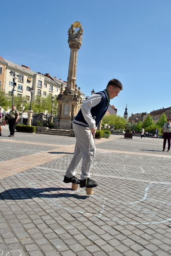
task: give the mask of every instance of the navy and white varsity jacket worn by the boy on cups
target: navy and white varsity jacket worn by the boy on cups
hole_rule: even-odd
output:
[[[109,102],[106,90],[93,94],[83,103],[73,122],[90,129],[96,128],[106,113]]]

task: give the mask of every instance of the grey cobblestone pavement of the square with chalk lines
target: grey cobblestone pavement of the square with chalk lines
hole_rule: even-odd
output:
[[[3,135],[0,166],[57,158],[0,180],[0,256],[171,255],[171,154],[161,139],[96,140],[99,186],[88,196],[63,183],[75,138]]]

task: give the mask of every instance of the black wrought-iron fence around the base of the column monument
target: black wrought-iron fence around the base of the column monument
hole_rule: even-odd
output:
[[[50,114],[37,113],[32,116],[32,125],[44,126],[51,129],[72,129],[74,116],[53,116]]]

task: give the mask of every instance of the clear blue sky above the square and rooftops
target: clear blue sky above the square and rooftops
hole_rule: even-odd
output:
[[[68,29],[80,21],[76,83],[85,95],[116,78],[110,104],[123,116],[171,106],[170,0],[6,0],[1,3],[0,56],[67,81]]]

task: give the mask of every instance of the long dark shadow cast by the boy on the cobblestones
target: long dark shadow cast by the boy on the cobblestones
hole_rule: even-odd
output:
[[[30,198],[76,198],[85,200],[89,198],[87,195],[77,195],[64,193],[62,190],[72,191],[69,188],[44,188],[44,189],[34,189],[34,188],[16,188],[16,189],[7,189],[0,193],[0,200],[22,200]],[[61,191],[56,194],[47,194],[50,191]],[[46,194],[43,194],[46,192]]]

